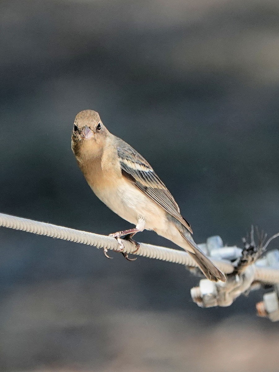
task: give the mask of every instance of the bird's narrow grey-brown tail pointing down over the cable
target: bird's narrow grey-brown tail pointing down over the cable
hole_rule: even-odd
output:
[[[192,239],[190,233],[188,231],[183,231],[182,232],[180,229],[179,229],[179,232],[184,237],[184,239],[187,241],[187,243],[191,246],[191,248],[193,249],[194,253],[192,253],[190,251],[188,251],[188,253],[195,260],[195,262],[197,262],[199,268],[204,273],[204,275],[209,280],[213,280],[214,282],[218,282],[218,280],[221,280],[222,282],[226,282],[226,276],[199,249],[197,244]]]

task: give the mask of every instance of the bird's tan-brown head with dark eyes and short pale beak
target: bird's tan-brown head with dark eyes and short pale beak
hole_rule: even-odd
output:
[[[72,151],[78,159],[96,157],[101,153],[108,134],[98,112],[83,110],[74,120]]]

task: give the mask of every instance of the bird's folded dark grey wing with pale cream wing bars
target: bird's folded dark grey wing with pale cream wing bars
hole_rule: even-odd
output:
[[[117,153],[123,176],[192,233],[190,224],[181,216],[179,206],[173,196],[145,158],[120,139]]]

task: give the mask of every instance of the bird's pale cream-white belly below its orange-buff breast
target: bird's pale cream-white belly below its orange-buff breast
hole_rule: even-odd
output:
[[[93,191],[108,208],[131,224],[136,225],[143,218],[147,230],[165,227],[163,209],[129,181]]]

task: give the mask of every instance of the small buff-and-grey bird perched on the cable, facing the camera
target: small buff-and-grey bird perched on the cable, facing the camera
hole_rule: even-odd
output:
[[[95,195],[135,228],[110,234],[123,253],[121,237],[134,242],[140,231],[152,230],[188,251],[204,275],[215,282],[226,276],[193,240],[190,224],[150,164],[132,146],[111,134],[94,110],[82,110],[74,119],[71,148]],[[104,249],[106,257],[107,249]]]

